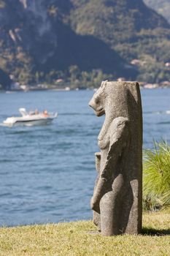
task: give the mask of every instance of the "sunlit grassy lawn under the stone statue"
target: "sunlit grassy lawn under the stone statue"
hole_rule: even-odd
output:
[[[91,221],[0,228],[0,255],[170,255],[170,209],[143,215],[139,236],[102,237]]]

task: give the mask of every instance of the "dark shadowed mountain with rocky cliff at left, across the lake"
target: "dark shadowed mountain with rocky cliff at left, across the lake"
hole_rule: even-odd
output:
[[[71,2],[1,1],[0,67],[22,83],[34,81],[35,74],[66,70],[77,65],[80,70],[102,69],[127,77],[135,69],[115,50],[93,35],[75,33],[64,18],[69,17]]]

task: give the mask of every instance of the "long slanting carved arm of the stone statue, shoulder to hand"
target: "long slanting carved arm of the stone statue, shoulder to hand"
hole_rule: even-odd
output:
[[[109,151],[107,154],[107,159],[104,165],[103,170],[98,177],[98,182],[96,184],[96,189],[94,191],[92,200],[91,200],[91,208],[94,211],[99,213],[99,202],[101,197],[107,191],[108,181],[113,175],[113,171],[115,166],[117,165],[117,159],[122,154],[123,148],[126,145],[126,141],[128,138],[129,129],[128,129],[128,119],[119,117],[117,118],[117,122],[112,127],[112,131],[109,139]]]

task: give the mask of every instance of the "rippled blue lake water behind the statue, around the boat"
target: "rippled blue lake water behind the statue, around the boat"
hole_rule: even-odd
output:
[[[44,127],[0,127],[0,225],[90,219],[94,153],[104,118],[88,102],[93,91],[0,94],[0,123],[18,108],[58,112]],[[142,90],[144,148],[170,142],[170,89]]]

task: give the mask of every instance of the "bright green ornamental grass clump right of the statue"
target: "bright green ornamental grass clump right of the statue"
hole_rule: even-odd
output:
[[[154,149],[144,150],[143,208],[157,211],[170,206],[170,146],[154,142]]]

